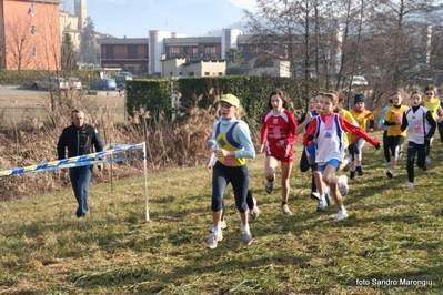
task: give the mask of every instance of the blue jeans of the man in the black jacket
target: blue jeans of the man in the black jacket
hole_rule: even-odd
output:
[[[88,189],[92,176],[92,165],[69,169],[69,177],[71,179],[72,189],[79,203],[75,215],[81,217],[89,212]]]

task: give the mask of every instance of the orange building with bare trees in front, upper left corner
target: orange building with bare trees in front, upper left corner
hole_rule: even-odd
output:
[[[0,69],[61,69],[59,4],[0,0]]]

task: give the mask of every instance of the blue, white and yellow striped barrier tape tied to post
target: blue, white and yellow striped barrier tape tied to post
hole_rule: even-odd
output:
[[[10,175],[16,175],[16,174],[23,174],[23,173],[30,173],[30,172],[39,172],[39,171],[51,171],[51,170],[58,170],[58,169],[69,169],[69,167],[77,167],[77,166],[87,166],[87,165],[93,165],[93,164],[99,164],[99,163],[112,163],[112,162],[120,162],[128,160],[127,157],[121,157],[121,159],[109,159],[109,160],[94,160],[95,157],[102,159],[104,156],[122,153],[125,151],[134,150],[134,149],[140,149],[143,146],[143,143],[139,144],[121,144],[120,148],[113,149],[113,150],[108,150],[108,151],[102,151],[102,152],[97,152],[97,153],[90,153],[85,155],[80,155],[80,156],[73,156],[73,157],[68,157],[63,160],[58,160],[58,161],[51,161],[51,162],[44,162],[36,165],[29,165],[24,167],[16,167],[16,169],[10,169],[10,170],[0,170],[0,177],[2,176],[10,176]],[[132,159],[132,157],[129,157]],[[119,160],[119,161],[115,161]]]

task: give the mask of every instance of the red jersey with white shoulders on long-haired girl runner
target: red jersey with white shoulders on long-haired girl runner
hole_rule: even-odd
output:
[[[260,143],[268,141],[268,149],[276,148],[280,140],[284,140],[284,145],[292,145],[298,139],[296,126],[295,116],[290,111],[283,109],[280,114],[274,114],[274,110],[270,110],[262,115]]]

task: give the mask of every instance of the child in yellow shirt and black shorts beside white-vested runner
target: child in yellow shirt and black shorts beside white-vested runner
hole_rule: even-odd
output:
[[[386,172],[387,177],[394,176],[396,161],[399,159],[401,146],[406,136],[406,131],[400,129],[403,121],[403,113],[407,109],[402,104],[402,95],[400,92],[392,94],[392,105],[384,115],[384,125],[387,126],[387,142],[391,150],[391,166]]]

